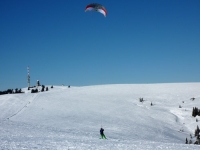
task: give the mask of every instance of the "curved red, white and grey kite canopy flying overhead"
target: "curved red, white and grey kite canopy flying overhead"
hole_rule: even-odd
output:
[[[86,11],[98,11],[100,13],[102,13],[104,15],[104,17],[106,17],[107,15],[107,10],[105,9],[104,6],[102,6],[101,4],[97,4],[97,3],[92,3],[89,4],[85,7],[85,12]]]

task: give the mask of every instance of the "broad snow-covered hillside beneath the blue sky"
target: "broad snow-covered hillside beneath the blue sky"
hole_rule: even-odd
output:
[[[22,90],[0,96],[1,149],[200,149],[184,144],[200,125],[200,83]]]

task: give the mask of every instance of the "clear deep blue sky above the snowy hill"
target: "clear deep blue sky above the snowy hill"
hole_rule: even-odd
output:
[[[0,90],[200,82],[200,0],[1,0],[0,62]]]

